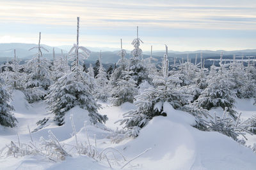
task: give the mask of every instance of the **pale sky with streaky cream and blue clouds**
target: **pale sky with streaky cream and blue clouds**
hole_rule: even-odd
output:
[[[256,0],[0,0],[0,43],[76,43],[142,50],[241,50],[256,48]]]

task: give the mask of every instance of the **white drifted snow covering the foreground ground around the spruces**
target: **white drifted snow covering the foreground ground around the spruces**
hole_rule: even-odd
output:
[[[14,114],[19,124],[13,129],[0,127],[0,148],[10,144],[10,141],[17,142],[17,133],[20,142],[28,143],[31,140],[28,125],[32,131],[36,128],[38,120],[49,116],[45,103],[28,104],[22,92],[14,91],[12,99],[11,104],[15,107]],[[86,126],[90,143],[94,145],[96,138],[99,151],[113,147],[130,160],[151,148],[147,153],[132,160],[124,169],[256,169],[256,154],[250,148],[241,146],[218,132],[203,132],[195,129],[191,126],[195,124],[191,115],[174,110],[168,103],[164,103],[167,117],[153,118],[141,130],[138,138],[127,138],[117,144],[111,143],[113,132],[117,127],[118,129],[122,127],[115,122],[122,118],[123,113],[134,109],[135,106],[131,103],[124,103],[119,107],[107,103],[100,104],[102,109],[99,112],[108,115],[108,122],[106,125]],[[219,108],[215,109],[218,110]],[[244,119],[256,114],[256,106],[253,106],[253,101],[250,99],[237,99],[236,110],[243,113]],[[70,147],[67,145],[67,151],[73,153],[72,157],[52,162],[38,155],[14,158],[1,154],[0,169],[110,169],[106,161],[97,162],[90,157],[74,154],[74,148],[71,146],[75,145],[76,139],[72,136],[70,115],[74,117],[77,140],[86,141],[84,121],[89,120],[88,111],[79,107],[68,111],[65,115],[65,125],[58,127],[49,124],[44,129],[33,132],[32,138],[35,143],[39,143],[40,136],[48,139],[48,131],[51,130],[61,143],[70,145]],[[256,143],[254,136],[248,139],[250,145]],[[113,164],[113,167],[120,169],[124,164],[125,162],[120,162],[120,165]]]

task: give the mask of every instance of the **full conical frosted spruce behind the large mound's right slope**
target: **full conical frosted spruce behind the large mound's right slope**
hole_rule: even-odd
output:
[[[234,78],[230,72],[221,62],[218,72],[214,76],[212,75],[211,78],[207,79],[207,87],[193,103],[193,106],[207,110],[218,106],[224,110],[227,107],[227,111],[230,115],[236,118],[236,111],[234,111],[234,102],[236,97],[234,87],[236,84],[234,83]],[[209,74],[209,76],[211,76],[211,74]]]

